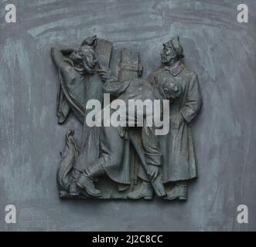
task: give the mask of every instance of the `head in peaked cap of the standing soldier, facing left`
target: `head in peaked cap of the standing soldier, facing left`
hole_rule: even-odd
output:
[[[173,37],[168,42],[162,44],[162,63],[168,65],[173,60],[183,58],[183,47],[179,43],[179,36]]]

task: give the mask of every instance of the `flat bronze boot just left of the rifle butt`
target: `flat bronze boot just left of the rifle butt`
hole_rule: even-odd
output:
[[[148,181],[142,181],[140,187],[129,192],[126,197],[130,199],[144,198],[145,200],[152,200],[153,193],[152,185]]]

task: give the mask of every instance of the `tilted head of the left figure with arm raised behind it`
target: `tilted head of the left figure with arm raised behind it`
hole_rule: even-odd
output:
[[[97,65],[97,52],[92,46],[80,46],[80,49],[70,54],[70,59],[81,66],[85,73],[94,73],[94,67]]]

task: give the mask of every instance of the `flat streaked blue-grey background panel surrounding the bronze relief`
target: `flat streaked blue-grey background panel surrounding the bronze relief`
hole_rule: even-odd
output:
[[[5,23],[5,5],[17,23]],[[0,3],[0,230],[256,230],[256,2],[244,0],[249,23],[237,22],[237,0],[38,0]],[[56,69],[49,49],[109,39],[138,49],[144,77],[160,66],[162,42],[179,35],[186,66],[196,71],[203,109],[193,122],[199,178],[185,203],[63,201],[56,169],[64,134],[57,124]],[[17,224],[5,224],[5,205]],[[237,223],[237,206],[249,224]]]

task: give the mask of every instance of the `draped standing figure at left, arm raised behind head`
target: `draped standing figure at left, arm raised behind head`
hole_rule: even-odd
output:
[[[109,66],[111,49],[111,42],[97,39],[96,36],[84,39],[79,48],[53,47],[51,49],[60,80],[56,108],[58,123],[64,123],[72,112],[77,120],[84,124],[80,154],[73,166],[73,182],[69,185],[70,195],[78,195],[77,176],[99,155],[100,129],[87,127],[84,120],[88,112],[87,101],[90,99],[102,101],[102,82],[95,72],[99,56],[101,63]]]

